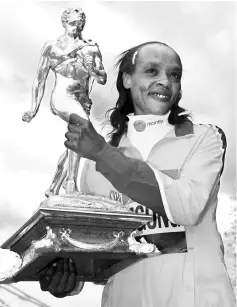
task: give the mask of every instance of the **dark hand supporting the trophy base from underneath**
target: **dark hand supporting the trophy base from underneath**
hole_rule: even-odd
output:
[[[44,274],[40,277],[41,290],[49,291],[58,298],[70,295],[76,286],[76,266],[68,258],[56,259],[47,266]]]

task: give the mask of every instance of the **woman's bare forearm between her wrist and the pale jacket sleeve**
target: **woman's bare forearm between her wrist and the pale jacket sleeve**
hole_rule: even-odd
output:
[[[146,162],[127,157],[118,148],[106,144],[97,157],[96,171],[120,193],[167,217],[156,176]]]

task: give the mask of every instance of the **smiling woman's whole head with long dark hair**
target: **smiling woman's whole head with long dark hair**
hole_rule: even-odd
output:
[[[158,50],[161,51],[159,55]],[[167,59],[168,54],[171,56]],[[162,59],[165,59],[164,63]],[[140,112],[149,114],[149,106],[157,115],[170,111],[168,121],[171,125],[181,124],[186,120],[189,112],[185,112],[178,105],[182,97],[182,63],[172,48],[160,42],[144,43],[122,53],[117,63],[117,66],[119,65],[119,98],[110,116],[114,128],[111,144],[116,145],[122,134],[127,131],[126,115],[133,112],[137,115],[142,114]],[[162,86],[163,83],[165,86]],[[136,97],[134,101],[131,95]]]

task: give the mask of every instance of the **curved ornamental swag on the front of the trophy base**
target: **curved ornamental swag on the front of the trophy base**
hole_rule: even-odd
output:
[[[113,233],[114,239],[111,240],[110,242],[106,243],[85,243],[81,242],[79,240],[73,239],[71,235],[71,230],[70,229],[62,229],[60,231],[61,233],[61,239],[67,243],[70,243],[72,246],[80,248],[80,249],[85,249],[89,251],[108,251],[115,247],[119,242],[123,242],[122,237],[124,236],[124,232],[120,231],[119,233]]]

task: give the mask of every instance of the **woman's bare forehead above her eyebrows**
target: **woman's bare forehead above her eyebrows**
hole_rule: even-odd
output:
[[[182,67],[178,54],[172,48],[158,43],[143,46],[138,51],[137,64],[142,65],[147,62],[162,62]]]

